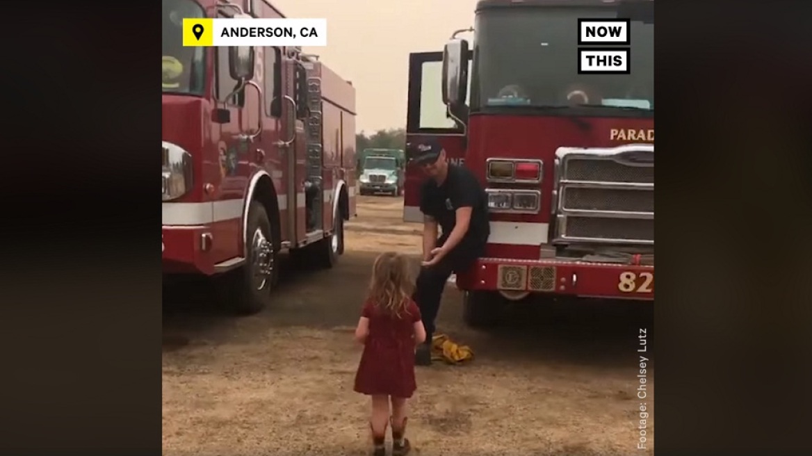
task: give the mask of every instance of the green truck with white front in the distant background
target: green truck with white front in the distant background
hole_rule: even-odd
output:
[[[361,195],[402,196],[406,154],[400,148],[365,148],[358,157]]]

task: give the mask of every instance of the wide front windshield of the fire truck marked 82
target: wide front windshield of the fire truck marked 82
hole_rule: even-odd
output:
[[[614,8],[510,6],[477,12],[471,111],[654,115],[654,24],[632,21],[629,75],[578,74],[578,18]],[[566,109],[571,108],[571,109]]]

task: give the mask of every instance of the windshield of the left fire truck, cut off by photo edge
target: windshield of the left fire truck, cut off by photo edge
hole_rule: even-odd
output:
[[[162,0],[161,79],[164,93],[203,95],[205,48],[184,47],[184,18],[205,17],[194,0]]]

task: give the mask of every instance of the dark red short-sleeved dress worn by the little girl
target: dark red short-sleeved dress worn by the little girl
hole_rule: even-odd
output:
[[[414,324],[421,320],[417,304],[409,301],[397,318],[368,302],[364,304],[361,316],[369,318],[369,335],[356,372],[356,392],[411,398],[417,389],[414,380]]]

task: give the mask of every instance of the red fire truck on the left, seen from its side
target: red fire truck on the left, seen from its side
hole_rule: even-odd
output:
[[[331,267],[355,215],[355,89],[298,48],[183,47],[184,18],[281,18],[264,0],[162,0],[162,269],[264,308],[279,253]]]

